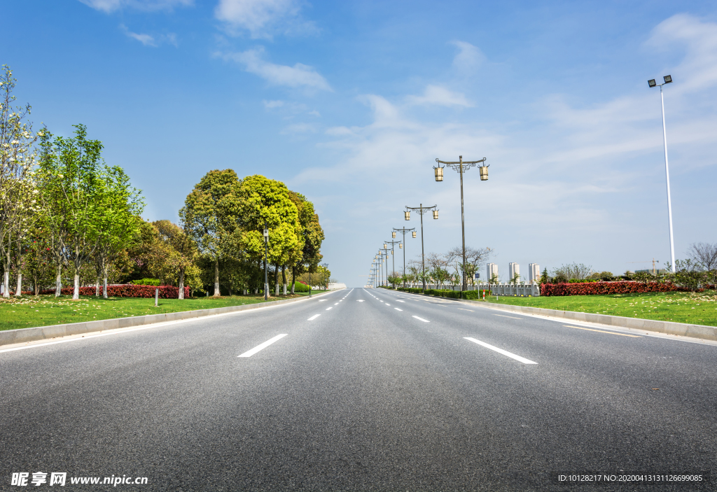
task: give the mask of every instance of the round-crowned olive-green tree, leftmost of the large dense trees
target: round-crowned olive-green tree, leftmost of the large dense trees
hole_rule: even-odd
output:
[[[232,256],[239,222],[239,178],[231,169],[212,170],[201,178],[179,211],[184,229],[214,264],[214,296],[219,293],[219,260]]]

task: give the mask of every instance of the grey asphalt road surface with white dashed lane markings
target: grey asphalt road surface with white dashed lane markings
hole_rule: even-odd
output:
[[[346,289],[0,349],[0,488],[717,490],[717,345],[586,328]]]

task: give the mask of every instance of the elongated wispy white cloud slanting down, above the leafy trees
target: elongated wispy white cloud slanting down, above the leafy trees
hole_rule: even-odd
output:
[[[328,90],[331,87],[326,79],[308,65],[297,63],[293,67],[278,65],[262,59],[263,48],[249,49],[241,53],[219,54],[225,60],[232,60],[244,65],[247,72],[256,74],[272,85],[286,87],[308,87],[310,89]]]

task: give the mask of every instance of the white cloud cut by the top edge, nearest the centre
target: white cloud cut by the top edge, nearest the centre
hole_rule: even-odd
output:
[[[246,29],[252,38],[271,37],[277,29],[287,34],[315,30],[300,19],[299,10],[295,0],[219,0],[214,16],[230,32]]]

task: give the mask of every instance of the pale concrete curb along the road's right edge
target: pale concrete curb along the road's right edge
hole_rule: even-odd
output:
[[[400,292],[400,291],[397,291]],[[411,294],[404,292],[404,294]],[[525,314],[540,314],[554,318],[574,319],[575,321],[607,324],[613,327],[645,329],[648,332],[667,333],[680,335],[680,337],[699,338],[704,340],[717,341],[717,327],[708,327],[704,324],[675,323],[670,321],[655,321],[654,319],[627,318],[622,316],[610,316],[609,314],[591,314],[574,311],[559,311],[557,309],[544,309],[541,307],[512,306],[511,304],[488,304],[488,302],[472,301],[470,299],[453,299],[450,297],[429,296],[428,294],[417,294],[419,296],[433,297],[435,299],[450,299],[451,301],[473,304],[487,309],[504,309]]]

